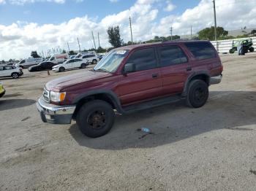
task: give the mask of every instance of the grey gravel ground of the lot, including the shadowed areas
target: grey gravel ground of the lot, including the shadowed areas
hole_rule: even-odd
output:
[[[256,54],[222,55],[206,106],[183,102],[117,115],[106,136],[42,123],[46,71],[0,79],[0,190],[255,190]],[[152,134],[139,132],[149,128]]]

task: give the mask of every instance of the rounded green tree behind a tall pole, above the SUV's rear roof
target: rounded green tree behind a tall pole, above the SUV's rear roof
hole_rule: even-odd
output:
[[[224,30],[223,27],[217,27],[217,39],[227,36],[228,32]],[[214,40],[214,26],[211,28],[203,28],[203,30],[198,32],[198,37],[201,40]]]

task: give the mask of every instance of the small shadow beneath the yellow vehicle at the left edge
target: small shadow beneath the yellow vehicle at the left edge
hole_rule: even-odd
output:
[[[0,99],[0,112],[9,109],[17,109],[23,106],[30,106],[36,101],[32,99]]]

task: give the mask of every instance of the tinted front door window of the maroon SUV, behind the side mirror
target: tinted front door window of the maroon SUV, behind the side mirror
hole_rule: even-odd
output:
[[[157,67],[157,60],[154,48],[136,50],[129,57],[127,63],[135,63],[135,71],[154,69]]]

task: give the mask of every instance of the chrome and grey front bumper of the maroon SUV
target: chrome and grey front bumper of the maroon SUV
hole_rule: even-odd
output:
[[[48,104],[41,97],[37,101],[37,110],[40,113],[40,117],[43,122],[53,124],[70,124],[72,114],[75,112],[75,106],[57,106],[54,104]]]

